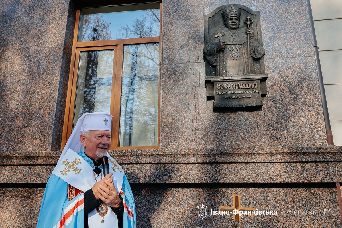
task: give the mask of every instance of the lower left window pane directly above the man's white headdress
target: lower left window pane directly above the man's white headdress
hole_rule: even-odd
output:
[[[74,123],[83,113],[110,112],[114,50],[81,52]]]

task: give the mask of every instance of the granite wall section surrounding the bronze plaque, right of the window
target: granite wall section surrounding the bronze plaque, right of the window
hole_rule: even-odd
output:
[[[206,100],[203,14],[228,3],[260,11],[262,111],[214,112]],[[305,0],[166,0],[162,25],[161,148],[327,145]]]

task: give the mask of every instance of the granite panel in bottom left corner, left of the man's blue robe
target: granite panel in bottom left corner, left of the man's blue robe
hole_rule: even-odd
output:
[[[36,227],[43,194],[43,188],[0,188],[0,226]]]

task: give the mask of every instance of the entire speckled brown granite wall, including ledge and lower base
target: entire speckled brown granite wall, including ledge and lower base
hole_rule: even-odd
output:
[[[262,111],[214,112],[206,99],[203,14],[227,3],[260,10],[269,74]],[[242,227],[341,227],[342,147],[326,142],[306,1],[162,5],[160,149],[110,151],[132,183],[137,227],[231,226],[227,217],[197,218],[197,206],[231,206],[233,194],[243,206],[279,211],[247,216]],[[0,6],[0,225],[34,227],[60,155],[75,5]],[[18,207],[27,210],[9,213]],[[280,214],[304,209],[335,213]]]

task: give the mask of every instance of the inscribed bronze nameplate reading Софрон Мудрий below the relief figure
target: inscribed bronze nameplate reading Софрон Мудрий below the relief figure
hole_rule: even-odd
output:
[[[214,97],[214,107],[263,105],[259,80],[214,82]]]

